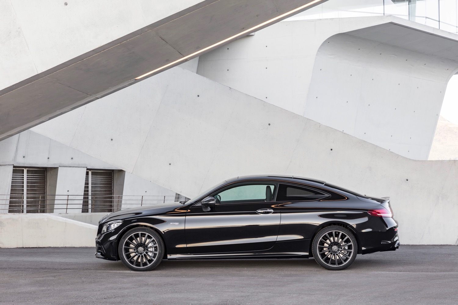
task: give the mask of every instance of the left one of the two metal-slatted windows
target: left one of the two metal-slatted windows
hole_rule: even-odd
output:
[[[46,170],[13,168],[9,213],[44,213]]]

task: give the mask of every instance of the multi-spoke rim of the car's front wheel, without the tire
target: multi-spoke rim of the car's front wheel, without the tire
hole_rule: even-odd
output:
[[[129,235],[122,248],[126,262],[135,268],[147,268],[158,257],[158,243],[152,235],[146,232]]]

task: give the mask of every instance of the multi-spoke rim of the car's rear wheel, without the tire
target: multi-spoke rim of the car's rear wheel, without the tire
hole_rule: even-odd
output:
[[[340,267],[353,256],[354,245],[345,232],[333,230],[320,236],[316,250],[323,263],[331,267]]]

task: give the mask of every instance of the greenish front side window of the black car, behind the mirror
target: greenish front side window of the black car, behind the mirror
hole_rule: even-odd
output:
[[[246,184],[231,187],[213,195],[217,204],[273,201],[274,184]]]

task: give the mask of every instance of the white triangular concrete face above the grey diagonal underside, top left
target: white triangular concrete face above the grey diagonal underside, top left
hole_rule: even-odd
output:
[[[0,2],[0,89],[201,1],[64,2]]]

